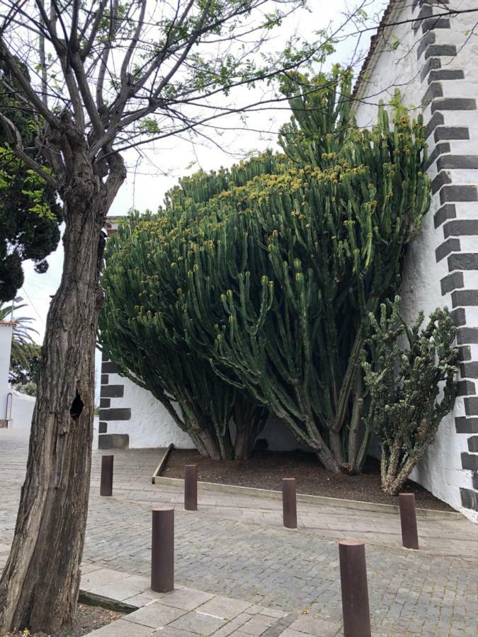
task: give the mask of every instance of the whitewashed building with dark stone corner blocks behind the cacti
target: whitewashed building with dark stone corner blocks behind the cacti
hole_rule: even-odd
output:
[[[457,6],[455,6],[457,5]],[[412,478],[478,522],[478,21],[476,2],[391,0],[353,97],[358,123],[373,125],[395,88],[422,112],[432,179],[431,210],[409,248],[402,299],[406,319],[448,306],[458,326],[459,396]],[[161,405],[104,361],[100,447],[193,447]],[[268,437],[267,430],[263,437]],[[284,428],[271,449],[296,446]]]

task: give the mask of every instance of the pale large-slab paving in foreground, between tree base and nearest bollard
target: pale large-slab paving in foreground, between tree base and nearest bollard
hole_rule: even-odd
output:
[[[86,567],[81,578],[82,599],[113,599],[130,607],[113,624],[87,637],[336,637],[340,624],[315,617],[266,608],[260,604],[214,595],[176,585],[171,592],[154,592],[149,578],[114,570]],[[320,631],[320,632],[317,632]]]

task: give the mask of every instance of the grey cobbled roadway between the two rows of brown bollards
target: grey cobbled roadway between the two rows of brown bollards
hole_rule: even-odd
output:
[[[0,430],[0,564],[13,537],[27,449],[25,435]],[[200,510],[184,512],[178,488],[151,484],[159,458],[153,449],[115,452],[113,497],[100,498],[100,457],[94,452],[89,564],[147,576],[151,509],[173,504],[178,582],[336,624],[336,541],[358,538],[367,543],[375,635],[477,636],[478,533],[465,518],[419,519],[424,548],[418,552],[402,549],[397,515],[382,512],[301,504],[302,528],[291,532],[281,526],[280,503],[273,500],[207,493]]]

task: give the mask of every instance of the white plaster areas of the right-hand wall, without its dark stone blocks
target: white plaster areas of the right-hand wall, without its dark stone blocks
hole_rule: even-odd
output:
[[[474,5],[470,0],[460,3],[460,8],[471,8]],[[416,17],[418,9],[414,11]],[[411,17],[411,3],[406,8],[393,16],[394,21],[402,21]],[[462,69],[465,79],[442,81],[443,97],[450,98],[477,98],[478,81],[478,46],[474,44],[476,38],[465,43],[467,33],[474,26],[474,17],[470,13],[459,17],[453,17],[450,29],[436,29],[436,45],[454,44],[457,47],[455,57],[442,58],[443,69]],[[358,124],[369,126],[375,121],[377,102],[382,98],[385,102],[393,96],[393,86],[398,86],[402,92],[404,105],[418,106],[421,104],[428,87],[427,81],[421,83],[419,71],[425,62],[423,55],[417,60],[417,40],[422,36],[419,29],[416,36],[411,30],[410,24],[393,28],[393,34],[400,44],[397,50],[382,52],[375,67],[369,67],[370,81],[365,91],[359,93],[360,101],[356,107]],[[461,45],[462,50],[460,50]],[[390,47],[389,47],[390,49]],[[421,112],[417,109],[416,112]],[[447,111],[442,112],[445,126],[468,126],[470,140],[450,141],[450,154],[478,154],[478,113],[476,111]],[[431,117],[431,105],[423,111],[425,124]],[[447,140],[448,141],[448,140]],[[428,139],[431,144],[429,154],[433,151],[433,134]],[[452,170],[448,171],[453,179],[453,184],[477,183],[477,171]],[[436,176],[436,163],[428,170],[431,179]],[[443,227],[434,227],[433,214],[440,207],[439,191],[432,197],[431,210],[426,214],[419,238],[409,246],[406,255],[404,275],[402,279],[402,309],[407,321],[416,319],[420,310],[425,315],[433,311],[437,306],[452,308],[451,295],[441,294],[440,280],[450,274],[448,260],[443,258],[436,262],[435,251],[444,241]],[[478,204],[475,202],[454,203],[457,210],[457,219],[478,219]],[[478,252],[478,237],[460,237],[462,252]],[[465,289],[478,289],[478,272],[470,270],[464,273]],[[467,327],[478,326],[478,312],[476,309],[466,309]],[[472,345],[472,360],[478,360],[478,345]],[[455,416],[465,415],[463,398],[457,398],[453,413],[448,415],[440,423],[436,440],[428,448],[426,456],[412,474],[412,478],[425,486],[438,498],[461,510],[467,517],[478,521],[478,514],[470,509],[462,507],[460,487],[472,488],[471,471],[462,469],[462,452],[468,452],[467,437],[465,434],[457,434],[455,430]]]

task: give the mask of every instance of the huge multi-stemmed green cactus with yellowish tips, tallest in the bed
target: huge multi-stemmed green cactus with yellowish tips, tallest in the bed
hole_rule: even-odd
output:
[[[423,125],[401,113],[390,128],[380,107],[377,125],[358,130],[350,74],[338,68],[286,89],[285,154],[182,180],[138,224],[129,249],[147,252],[138,265],[154,275],[143,277],[137,321],[143,298],[161,297],[168,340],[266,406],[328,469],[353,472],[368,442],[368,314],[394,297],[429,205]]]

